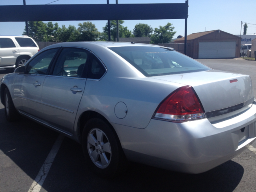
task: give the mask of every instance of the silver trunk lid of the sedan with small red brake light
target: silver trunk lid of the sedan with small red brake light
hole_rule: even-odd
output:
[[[252,80],[249,75],[234,74],[219,70],[154,76],[150,78],[190,85],[196,91],[206,112],[212,112],[238,104],[254,101]],[[234,110],[234,109],[233,109]],[[218,115],[220,115],[218,113]]]

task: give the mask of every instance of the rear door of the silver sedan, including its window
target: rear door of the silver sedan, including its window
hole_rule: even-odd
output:
[[[62,48],[51,75],[44,80],[44,120],[69,135],[73,134],[76,112],[86,84],[89,53],[82,48]]]

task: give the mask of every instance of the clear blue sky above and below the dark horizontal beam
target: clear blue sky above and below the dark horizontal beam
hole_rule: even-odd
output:
[[[48,4],[55,0],[26,0],[26,4]],[[51,4],[106,4],[107,0],[58,0]],[[116,0],[109,0],[110,4],[115,4]],[[185,0],[118,0],[119,4],[127,3],[184,3]],[[22,5],[23,0],[0,0],[1,5]],[[188,1],[188,35],[196,32],[220,29],[230,34],[240,34],[241,21],[248,24],[247,34],[256,34],[256,0],[189,0]],[[171,11],[171,10],[170,10]],[[26,14],[26,13],[24,13]],[[74,25],[84,21],[53,21],[59,26]],[[91,21],[96,28],[102,32],[102,27],[107,21]],[[178,35],[184,36],[185,20],[125,20],[124,26],[133,30],[138,23],[145,23],[152,28],[164,26],[168,22],[175,27],[174,31]],[[22,34],[25,22],[0,22],[0,34]],[[242,26],[243,32],[243,26]]]

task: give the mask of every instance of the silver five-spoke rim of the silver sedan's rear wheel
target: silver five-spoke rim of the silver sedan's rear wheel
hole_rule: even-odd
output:
[[[106,134],[94,128],[87,137],[87,149],[92,162],[99,168],[106,168],[111,161],[111,146]]]

